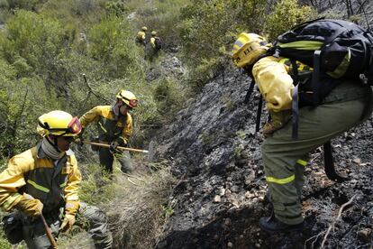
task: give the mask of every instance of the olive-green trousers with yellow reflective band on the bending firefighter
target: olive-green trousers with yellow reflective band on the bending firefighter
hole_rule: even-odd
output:
[[[335,94],[341,94],[345,90],[346,88],[337,88]],[[264,171],[278,220],[292,225],[303,221],[299,185],[303,185],[300,176],[303,176],[304,169],[300,168],[297,161],[359,124],[364,106],[364,97],[361,97],[315,108],[303,107],[299,111],[297,140],[292,138],[292,125],[289,123],[262,144]]]

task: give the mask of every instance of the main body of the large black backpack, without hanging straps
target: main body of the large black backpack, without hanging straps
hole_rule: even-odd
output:
[[[314,61],[314,51],[320,51],[319,61]],[[373,85],[373,35],[355,23],[316,19],[299,24],[279,35],[269,53],[319,66],[332,78],[364,74]]]

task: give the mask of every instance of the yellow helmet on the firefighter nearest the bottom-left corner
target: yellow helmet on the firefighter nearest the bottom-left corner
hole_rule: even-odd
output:
[[[76,136],[81,132],[82,126],[77,116],[73,117],[67,112],[56,110],[41,115],[36,129],[41,136]]]

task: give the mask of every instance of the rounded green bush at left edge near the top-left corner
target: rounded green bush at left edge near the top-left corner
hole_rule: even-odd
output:
[[[1,54],[15,64],[18,77],[46,75],[55,69],[63,52],[63,29],[59,22],[19,10],[8,20],[1,33]]]

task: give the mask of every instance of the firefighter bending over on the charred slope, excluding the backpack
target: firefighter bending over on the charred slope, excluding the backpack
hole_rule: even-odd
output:
[[[302,188],[309,153],[351,127],[367,120],[372,113],[372,91],[359,78],[325,78],[324,84],[339,81],[319,106],[299,109],[298,138],[292,137],[291,118],[294,84],[291,64],[283,57],[267,56],[271,45],[256,33],[242,32],[232,50],[234,64],[245,69],[266,100],[271,120],[263,127],[266,140],[261,145],[269,199],[274,214],[261,217],[259,226],[270,233],[301,230]],[[299,75],[307,73],[296,63]]]

